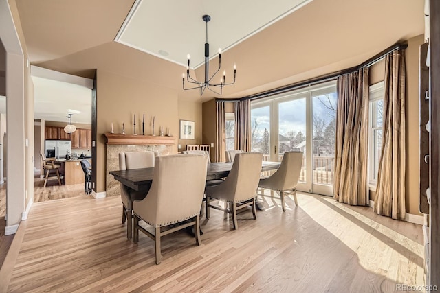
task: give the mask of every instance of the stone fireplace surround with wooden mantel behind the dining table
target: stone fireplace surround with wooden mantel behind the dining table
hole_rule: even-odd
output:
[[[120,183],[113,178],[110,171],[119,170],[120,152],[157,151],[161,156],[177,154],[177,137],[110,134],[107,137],[106,163],[106,196],[119,196]]]

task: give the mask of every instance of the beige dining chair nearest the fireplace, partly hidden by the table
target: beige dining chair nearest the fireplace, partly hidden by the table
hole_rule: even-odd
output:
[[[120,152],[119,153],[119,169],[142,169],[154,167],[155,157],[159,156],[159,152],[143,151],[143,152]],[[131,239],[133,231],[133,200],[142,200],[146,196],[145,191],[135,191],[121,185],[122,200],[122,224],[126,222],[126,237]]]

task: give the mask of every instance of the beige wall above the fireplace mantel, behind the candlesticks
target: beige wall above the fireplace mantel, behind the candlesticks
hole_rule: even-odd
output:
[[[142,128],[142,115],[145,114],[145,134],[151,134],[151,118],[155,116],[155,133],[159,126],[170,128],[170,133],[178,136],[179,117],[194,119],[196,128],[201,124],[201,113],[197,110],[191,115],[179,116],[179,102],[177,93],[172,89],[148,84],[145,80],[127,78],[109,71],[98,69],[97,71],[97,137],[96,137],[96,192],[105,191],[106,176],[106,148],[107,139],[104,133],[111,130],[115,133],[122,132],[122,123],[125,124],[125,132],[133,133],[133,115],[137,117],[137,133]],[[189,112],[189,105],[182,106]],[[201,111],[201,110],[200,110]],[[194,115],[194,116],[192,116]],[[201,126],[199,126],[201,127]],[[142,131],[142,130],[141,130]],[[197,135],[196,131],[196,135]],[[201,132],[199,133],[199,136]],[[198,137],[197,139],[200,140]],[[177,153],[177,145],[174,152]],[[95,159],[95,158],[94,158]]]

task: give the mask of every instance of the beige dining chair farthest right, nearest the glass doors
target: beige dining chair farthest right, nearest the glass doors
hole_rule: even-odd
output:
[[[278,191],[281,196],[281,206],[286,211],[285,196],[293,194],[295,205],[298,206],[296,198],[296,185],[303,166],[303,152],[285,152],[280,167],[267,178],[260,180],[259,187]]]

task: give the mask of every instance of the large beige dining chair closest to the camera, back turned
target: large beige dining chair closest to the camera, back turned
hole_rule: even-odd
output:
[[[192,226],[196,244],[201,244],[199,211],[207,164],[206,156],[198,154],[158,156],[147,196],[133,202],[133,242],[139,241],[139,231],[153,239],[156,264],[162,259],[160,240],[165,235]],[[140,221],[153,226],[154,233],[140,226]]]

